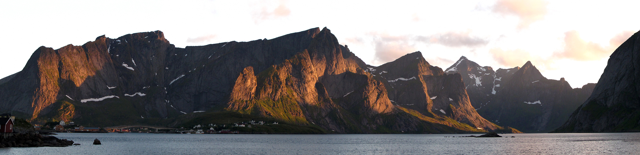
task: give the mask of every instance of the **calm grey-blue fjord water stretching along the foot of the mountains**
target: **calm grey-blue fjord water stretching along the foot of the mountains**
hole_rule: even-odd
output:
[[[59,134],[56,137],[74,140],[82,145],[3,148],[0,149],[0,154],[637,154],[640,152],[640,133],[501,134],[503,138],[462,137],[477,134]],[[515,138],[510,138],[512,136]],[[92,145],[95,138],[98,138],[102,145]]]

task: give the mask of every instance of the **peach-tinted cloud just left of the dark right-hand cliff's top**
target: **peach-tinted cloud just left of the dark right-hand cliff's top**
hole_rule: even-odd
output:
[[[564,33],[564,49],[554,52],[554,57],[572,59],[575,61],[595,61],[609,57],[624,41],[633,35],[633,31],[623,31],[609,40],[608,46],[580,38],[578,31]]]

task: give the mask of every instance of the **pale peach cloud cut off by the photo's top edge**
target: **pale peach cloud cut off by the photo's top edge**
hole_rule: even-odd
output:
[[[525,29],[533,22],[547,15],[547,1],[541,0],[498,0],[493,12],[502,15],[515,15],[520,18],[517,29]]]

